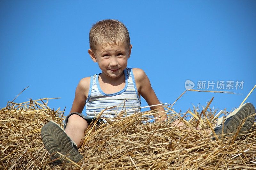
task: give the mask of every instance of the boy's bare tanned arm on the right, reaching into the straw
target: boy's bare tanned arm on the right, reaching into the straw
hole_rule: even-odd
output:
[[[156,97],[156,93],[151,87],[150,81],[146,73],[141,69],[132,69],[133,75],[135,78],[136,86],[139,94],[147,101],[148,105],[157,105],[161,104]],[[150,107],[151,110],[158,110],[158,114],[154,115],[155,118],[161,117],[161,119],[157,119],[157,122],[164,121],[167,119],[167,115],[164,113],[164,108],[160,106]]]

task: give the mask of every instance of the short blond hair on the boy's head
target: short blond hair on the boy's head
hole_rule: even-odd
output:
[[[126,26],[122,22],[113,19],[102,20],[92,25],[89,41],[93,52],[96,51],[97,45],[103,44],[109,44],[110,46],[124,44],[127,49],[131,46]]]

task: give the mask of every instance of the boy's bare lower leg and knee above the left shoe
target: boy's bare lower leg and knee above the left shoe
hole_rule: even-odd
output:
[[[84,142],[84,132],[87,128],[87,121],[74,114],[69,116],[65,132],[76,143],[77,148],[79,148]]]

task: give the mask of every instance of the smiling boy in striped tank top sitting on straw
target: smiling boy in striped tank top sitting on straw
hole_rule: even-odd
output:
[[[139,112],[140,96],[147,101],[148,105],[160,104],[145,72],[141,69],[127,68],[132,45],[124,24],[109,19],[97,22],[90,30],[89,39],[88,53],[92,61],[98,63],[102,72],[80,80],[76,87],[70,114],[65,119],[65,131],[54,122],[49,122],[42,128],[41,135],[44,146],[50,154],[53,154],[54,158],[60,157],[58,153],[55,153],[58,151],[67,155],[69,159],[79,162],[83,156],[77,148],[83,144],[84,132],[94,120],[95,115],[100,114],[105,108],[116,106],[105,110],[101,117],[114,117],[122,110],[125,110],[124,115],[128,116]],[[85,105],[87,116],[81,114]],[[246,117],[253,114],[252,107],[250,105],[251,111],[250,113],[246,112]],[[157,109],[159,112],[154,115],[156,121],[167,119],[161,105],[150,107],[150,109]],[[238,113],[236,115],[240,115],[240,111]],[[175,121],[172,125],[176,125],[178,122]],[[249,123],[250,129],[253,122]],[[182,125],[184,124],[177,124],[177,126]],[[224,129],[228,125],[224,125]],[[234,126],[235,129],[238,125]],[[248,128],[247,130],[249,130]],[[224,130],[224,132],[226,131]]]

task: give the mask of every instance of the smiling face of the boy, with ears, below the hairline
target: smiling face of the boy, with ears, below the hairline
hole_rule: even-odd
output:
[[[88,50],[92,60],[99,64],[100,70],[104,76],[111,78],[118,78],[122,75],[124,69],[127,67],[127,60],[131,55],[132,45],[129,49],[127,46],[109,44],[98,45],[97,50],[93,52]]]

